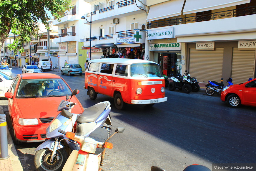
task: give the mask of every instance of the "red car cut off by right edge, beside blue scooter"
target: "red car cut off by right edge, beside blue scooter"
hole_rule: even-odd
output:
[[[256,107],[256,78],[246,83],[240,83],[225,87],[220,99],[230,107],[240,105]]]

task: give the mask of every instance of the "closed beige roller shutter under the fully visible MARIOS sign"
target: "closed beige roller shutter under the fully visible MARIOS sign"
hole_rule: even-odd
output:
[[[200,51],[190,48],[189,74],[197,81],[208,83],[208,80],[220,81],[222,78],[224,48],[211,51]]]

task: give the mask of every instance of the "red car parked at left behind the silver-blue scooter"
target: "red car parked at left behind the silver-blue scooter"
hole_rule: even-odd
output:
[[[59,113],[57,108],[72,90],[58,75],[18,74],[5,97],[14,129],[15,143],[46,140],[46,128]],[[82,113],[82,104],[74,96],[72,113]]]

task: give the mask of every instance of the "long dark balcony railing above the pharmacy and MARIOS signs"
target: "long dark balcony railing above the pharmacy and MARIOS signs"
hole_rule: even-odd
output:
[[[209,21],[209,20],[215,20],[215,19],[221,19],[221,18],[240,17],[240,16],[252,15],[252,14],[256,14],[256,6],[215,12],[215,13],[204,14],[204,15],[196,15],[192,17],[170,19],[162,22],[154,22],[154,23],[147,24],[147,29],[172,26],[172,25],[178,25],[178,24],[186,24],[191,22]]]

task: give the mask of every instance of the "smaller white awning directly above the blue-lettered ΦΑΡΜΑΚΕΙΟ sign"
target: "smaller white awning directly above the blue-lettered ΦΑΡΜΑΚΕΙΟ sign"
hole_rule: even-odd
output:
[[[184,0],[172,0],[150,6],[147,21],[181,15]]]

